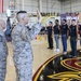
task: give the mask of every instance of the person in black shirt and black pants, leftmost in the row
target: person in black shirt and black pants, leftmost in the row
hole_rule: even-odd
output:
[[[53,50],[53,23],[52,22],[50,22],[49,23],[49,26],[46,27],[46,29],[48,29],[48,42],[49,42],[49,48],[48,49],[51,49],[51,50]]]

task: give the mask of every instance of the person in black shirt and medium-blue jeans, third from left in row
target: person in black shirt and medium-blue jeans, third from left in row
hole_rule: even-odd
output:
[[[60,26],[60,33],[62,33],[63,53],[64,55],[66,55],[67,54],[67,38],[69,35],[66,19],[63,19],[63,25]]]

